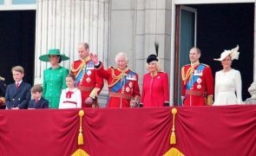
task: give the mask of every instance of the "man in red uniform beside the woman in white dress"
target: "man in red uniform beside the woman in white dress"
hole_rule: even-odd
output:
[[[213,74],[212,69],[199,62],[200,49],[189,51],[189,60],[181,68],[181,100],[183,106],[205,106],[213,104]]]

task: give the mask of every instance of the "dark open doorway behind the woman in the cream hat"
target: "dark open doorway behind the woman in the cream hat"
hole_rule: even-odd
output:
[[[197,47],[202,51],[200,62],[212,67],[213,76],[222,68],[213,58],[219,58],[224,49],[240,46],[240,58],[233,61],[232,67],[240,70],[243,101],[250,98],[247,90],[253,82],[254,3],[187,6],[197,9]]]

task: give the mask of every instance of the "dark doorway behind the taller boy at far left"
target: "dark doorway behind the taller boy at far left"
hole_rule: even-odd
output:
[[[0,75],[13,82],[10,69],[23,66],[23,81],[33,84],[36,10],[0,11]]]

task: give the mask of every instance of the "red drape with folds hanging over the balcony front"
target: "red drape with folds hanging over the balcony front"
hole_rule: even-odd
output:
[[[177,107],[177,144],[169,143],[172,107],[0,110],[0,155],[256,155],[256,106]]]

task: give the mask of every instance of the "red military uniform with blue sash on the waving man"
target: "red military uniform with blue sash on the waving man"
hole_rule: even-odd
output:
[[[108,107],[130,107],[130,100],[141,96],[138,75],[128,68],[110,67],[105,70],[100,63],[98,75],[108,81]]]

